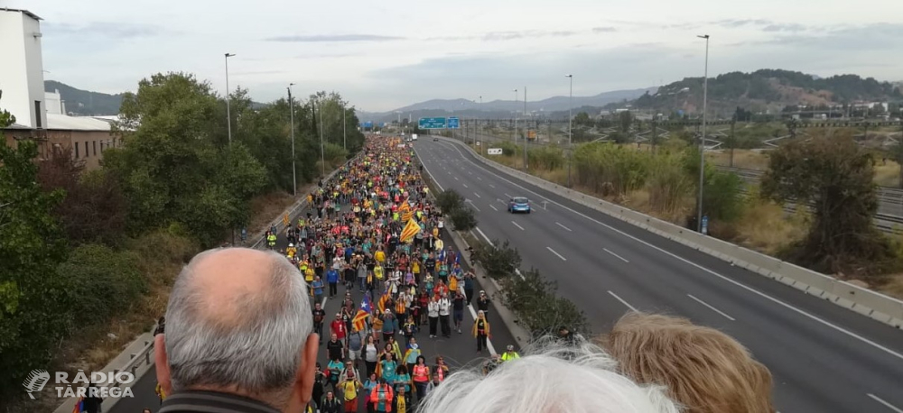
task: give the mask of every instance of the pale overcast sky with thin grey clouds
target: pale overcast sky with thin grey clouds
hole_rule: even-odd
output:
[[[903,1],[0,0],[42,21],[46,79],[105,93],[182,71],[256,101],[339,92],[361,110],[656,87],[756,69],[903,80]]]

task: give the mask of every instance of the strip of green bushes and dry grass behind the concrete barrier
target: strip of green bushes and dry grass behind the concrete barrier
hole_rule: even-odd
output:
[[[699,151],[680,137],[657,143],[654,150],[615,142],[576,144],[573,188],[695,229]],[[494,142],[492,147],[502,154],[483,156],[523,169],[520,146]],[[703,214],[709,217],[712,236],[903,298],[903,276],[898,275],[903,239],[871,225],[878,206],[875,175],[881,167],[893,168],[884,165],[891,161],[876,159],[875,151],[854,142],[852,131],[843,129],[788,139],[755,157],[751,153],[743,159],[755,160],[749,163],[765,171],[761,188],[706,163]],[[527,158],[530,173],[567,185],[563,148],[529,148]],[[807,200],[813,208],[796,208],[791,214],[783,207]]]

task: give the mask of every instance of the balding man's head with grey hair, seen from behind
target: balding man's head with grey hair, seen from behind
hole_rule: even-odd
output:
[[[172,286],[166,318],[163,374],[176,392],[229,391],[275,408],[294,405],[310,343],[312,377],[316,339],[310,340],[307,288],[275,252],[201,252]]]

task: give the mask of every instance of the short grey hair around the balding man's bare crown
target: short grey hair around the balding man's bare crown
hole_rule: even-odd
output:
[[[229,303],[237,309],[235,321],[208,317],[204,307],[209,298],[199,288],[195,270],[217,251],[196,255],[172,286],[165,339],[172,389],[237,389],[283,404],[313,330],[307,286],[291,262],[266,252],[272,258],[268,285]]]

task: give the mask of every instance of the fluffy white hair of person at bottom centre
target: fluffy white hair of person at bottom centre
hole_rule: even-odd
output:
[[[431,391],[426,413],[678,413],[660,386],[639,385],[616,372],[617,362],[586,342],[538,349],[483,375],[453,373]]]

